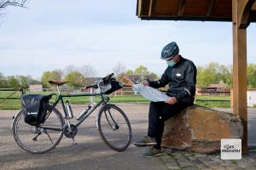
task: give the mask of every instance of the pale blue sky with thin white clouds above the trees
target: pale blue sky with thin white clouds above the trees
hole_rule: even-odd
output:
[[[196,66],[212,61],[232,65],[232,23],[140,20],[137,0],[30,0],[26,8],[0,14],[0,72],[32,76],[91,65],[97,76],[139,65],[161,75],[161,49],[177,42],[180,54]],[[256,64],[256,25],[247,27],[247,63]],[[254,40],[254,41],[253,41]]]

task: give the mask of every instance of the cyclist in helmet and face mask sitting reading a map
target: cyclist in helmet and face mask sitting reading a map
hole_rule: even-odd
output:
[[[176,42],[166,45],[161,51],[161,59],[165,59],[167,68],[160,80],[143,82],[145,86],[161,88],[169,84],[166,102],[151,102],[148,113],[148,135],[135,142],[138,147],[152,146],[142,156],[159,156],[164,122],[177,115],[185,107],[193,105],[195,96],[196,67],[189,59],[179,54]]]

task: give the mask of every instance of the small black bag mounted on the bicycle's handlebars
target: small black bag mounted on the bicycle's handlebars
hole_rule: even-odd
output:
[[[103,94],[111,94],[114,91],[123,88],[122,82],[117,82],[114,78],[110,78],[108,81],[104,81],[102,85]]]

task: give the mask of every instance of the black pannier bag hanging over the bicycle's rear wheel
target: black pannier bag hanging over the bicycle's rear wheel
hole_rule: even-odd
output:
[[[45,121],[47,107],[51,96],[41,94],[27,94],[21,96],[21,107],[24,112],[24,121],[32,126]]]

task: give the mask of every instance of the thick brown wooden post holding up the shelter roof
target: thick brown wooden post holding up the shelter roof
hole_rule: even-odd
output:
[[[241,1],[233,0],[233,112],[243,124],[242,153],[247,153],[247,30],[240,29],[237,20],[243,13]]]

